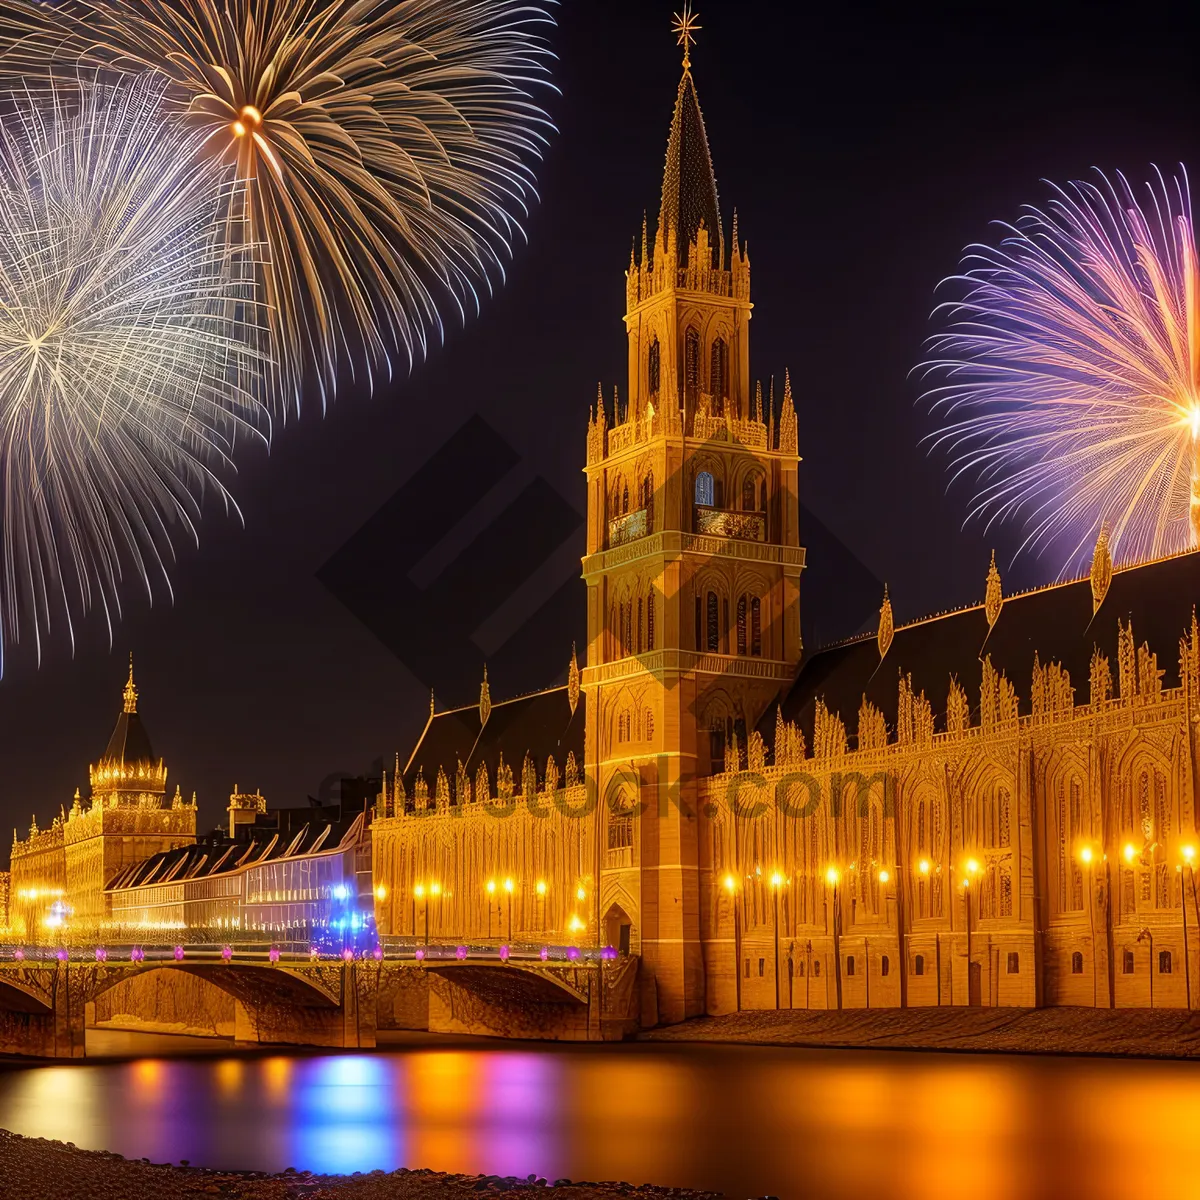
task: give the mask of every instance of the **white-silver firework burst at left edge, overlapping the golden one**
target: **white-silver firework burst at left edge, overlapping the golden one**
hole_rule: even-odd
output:
[[[4,652],[167,580],[239,436],[263,427],[221,214],[162,89],[82,80],[0,119]],[[167,582],[169,589],[169,582]]]

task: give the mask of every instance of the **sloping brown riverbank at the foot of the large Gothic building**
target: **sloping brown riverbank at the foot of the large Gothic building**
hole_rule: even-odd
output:
[[[1200,1013],[1097,1008],[790,1009],[697,1016],[648,1042],[1200,1058]]]

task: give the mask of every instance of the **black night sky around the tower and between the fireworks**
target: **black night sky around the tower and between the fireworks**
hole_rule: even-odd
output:
[[[1007,590],[1055,576],[1057,563],[1012,563],[1016,530],[961,529],[967,491],[947,493],[944,463],[919,445],[931,426],[908,372],[937,281],[989,221],[1043,200],[1040,179],[1200,162],[1192,40],[1172,32],[1186,10],[700,10],[694,73],[721,205],[750,242],[752,372],[787,366],[797,392],[808,643],[854,632],[881,580],[898,622],[982,599],[992,546]],[[545,103],[559,132],[529,244],[480,318],[410,377],[347,389],[325,416],[313,402],[269,456],[245,454],[245,526],[214,511],[174,600],[131,589],[112,646],[97,620],[40,670],[30,647],[10,658],[10,824],[24,833],[35,810],[44,824],[86,784],[131,649],[155,749],[172,790],[199,793],[202,827],[235,782],[302,803],[407,752],[428,684],[439,706],[470,703],[485,656],[497,697],[565,678],[584,637],[571,510],[587,408],[598,380],[624,392],[623,272],[643,209],[652,228],[656,216],[679,76],[671,11],[558,10],[562,95]],[[466,599],[414,618],[403,598],[439,580]],[[446,622],[466,625],[434,679]]]

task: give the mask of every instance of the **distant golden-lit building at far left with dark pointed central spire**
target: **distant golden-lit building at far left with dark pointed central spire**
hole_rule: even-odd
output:
[[[167,799],[167,768],[155,757],[138,713],[133,664],[121,713],[100,761],[89,769],[90,797],[76,790],[70,810],[50,826],[37,818],[29,836],[12,835],[10,928],[37,937],[70,919],[96,926],[109,916],[106,884],[122,869],[196,841],[196,802],[176,787]]]

